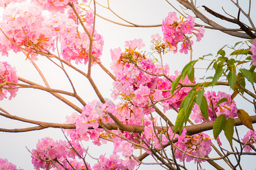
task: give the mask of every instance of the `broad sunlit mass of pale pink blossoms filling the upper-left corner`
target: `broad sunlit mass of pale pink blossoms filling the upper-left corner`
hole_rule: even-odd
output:
[[[40,3],[51,5],[51,3],[65,4],[68,1],[40,1]],[[46,6],[47,9],[48,7]],[[76,9],[83,22],[86,23],[86,29],[92,33],[92,11],[84,12],[78,7]],[[21,49],[18,46],[21,46],[26,50],[27,56],[30,55],[31,59],[37,59],[38,54],[35,52],[54,50],[57,38],[65,61],[75,60],[76,63],[84,61],[86,64],[89,61],[90,40],[85,31],[80,31],[79,24],[72,9],[65,14],[60,12],[49,14],[49,19],[47,19],[46,14],[42,15],[42,9],[35,3],[11,3],[5,8],[3,21],[0,23],[3,33],[10,40],[0,33],[0,52],[2,55],[8,55],[11,49],[15,53],[20,52]],[[94,31],[92,54],[97,61],[100,61],[103,45],[102,36]]]

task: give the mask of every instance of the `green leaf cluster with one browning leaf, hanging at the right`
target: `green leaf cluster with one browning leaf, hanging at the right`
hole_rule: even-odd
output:
[[[207,70],[213,70],[214,75],[207,78],[208,82],[195,84],[189,94],[184,97],[183,101],[181,101],[179,113],[177,115],[175,123],[175,133],[177,131],[181,133],[183,125],[187,124],[188,118],[195,103],[199,105],[201,114],[203,115],[205,120],[208,121],[208,108],[210,107],[213,109],[214,107],[209,106],[207,103],[207,99],[204,96],[205,87],[213,87],[220,84],[229,86],[230,89],[233,91],[231,97],[232,101],[238,94],[243,95],[247,86],[250,85],[254,87],[254,83],[256,83],[256,73],[254,71],[255,66],[252,65],[251,62],[250,49],[236,49],[236,46],[239,44],[243,44],[243,42],[237,42],[233,47],[229,47],[230,49],[232,49],[232,53],[230,53],[229,55],[226,54],[227,52],[225,48],[227,45],[223,46],[220,50],[218,50],[216,57],[212,59],[209,66],[207,67]],[[181,75],[179,75],[174,80],[174,82],[172,82],[171,92],[174,93],[180,80],[183,80],[185,76],[188,76],[189,80],[193,82],[193,79],[195,78],[194,66],[196,62],[200,59],[203,60],[205,59],[205,57],[208,56],[213,55],[208,54],[207,56],[203,56],[185,65]],[[219,79],[222,79],[222,82],[219,82]],[[225,82],[227,83],[225,84]],[[180,86],[184,86],[184,84],[180,84]],[[246,93],[248,93],[248,91],[246,91]],[[222,98],[220,101],[218,101],[216,105],[220,105],[225,101],[228,101],[228,99]],[[247,128],[249,129],[253,129],[250,116],[246,111],[238,109],[237,114],[243,125],[247,126]],[[217,139],[218,135],[221,133],[222,130],[224,130],[226,138],[228,139],[230,145],[232,145],[232,138],[234,133],[234,118],[229,117],[227,119],[224,114],[221,114],[218,117],[216,116],[216,120],[213,124],[213,135],[215,139]]]

